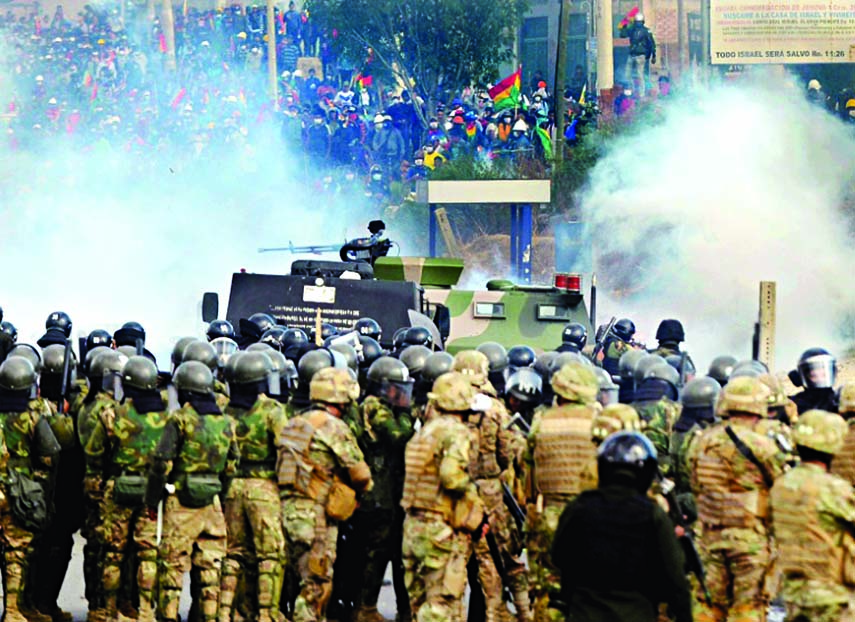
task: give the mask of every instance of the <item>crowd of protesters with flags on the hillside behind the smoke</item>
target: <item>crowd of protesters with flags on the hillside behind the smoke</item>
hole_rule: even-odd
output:
[[[428,110],[420,94],[374,80],[371,58],[359,67],[337,58],[329,33],[292,2],[275,13],[274,101],[263,6],[176,5],[173,19],[174,43],[145,5],[87,5],[76,16],[62,7],[52,16],[9,11],[0,18],[6,146],[37,151],[64,137],[145,160],[199,157],[276,135],[307,171],[367,176],[381,193],[390,181],[411,184],[462,156],[551,159],[554,98],[538,73],[518,107],[496,111],[486,88],[472,88],[446,93]],[[565,93],[570,143],[596,123],[586,88],[581,73]]]

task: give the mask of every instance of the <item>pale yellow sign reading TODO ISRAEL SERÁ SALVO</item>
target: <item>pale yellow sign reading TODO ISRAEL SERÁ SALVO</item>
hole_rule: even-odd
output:
[[[714,65],[855,62],[855,1],[710,0]]]

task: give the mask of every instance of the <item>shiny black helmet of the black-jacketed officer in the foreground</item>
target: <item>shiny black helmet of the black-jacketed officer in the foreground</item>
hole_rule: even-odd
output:
[[[597,450],[600,487],[628,484],[644,494],[657,468],[656,448],[641,432],[616,432]]]

